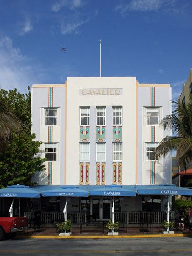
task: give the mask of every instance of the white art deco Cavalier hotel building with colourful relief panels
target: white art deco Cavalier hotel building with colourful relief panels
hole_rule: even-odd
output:
[[[65,84],[33,85],[32,132],[43,142],[40,156],[47,158],[45,172],[37,173],[33,181],[83,189],[170,184],[170,154],[155,161],[151,153],[171,135],[158,125],[171,112],[171,98],[170,84],[139,84],[136,77],[68,77]],[[152,205],[164,210],[165,197],[154,197]],[[111,199],[92,197],[86,210],[92,214],[99,200],[103,211],[104,204],[111,209]],[[82,202],[87,205],[85,199],[79,204],[74,198],[70,210],[83,210]],[[123,211],[151,207],[150,199],[146,203],[142,196],[119,204]],[[104,212],[100,219],[106,219]]]

